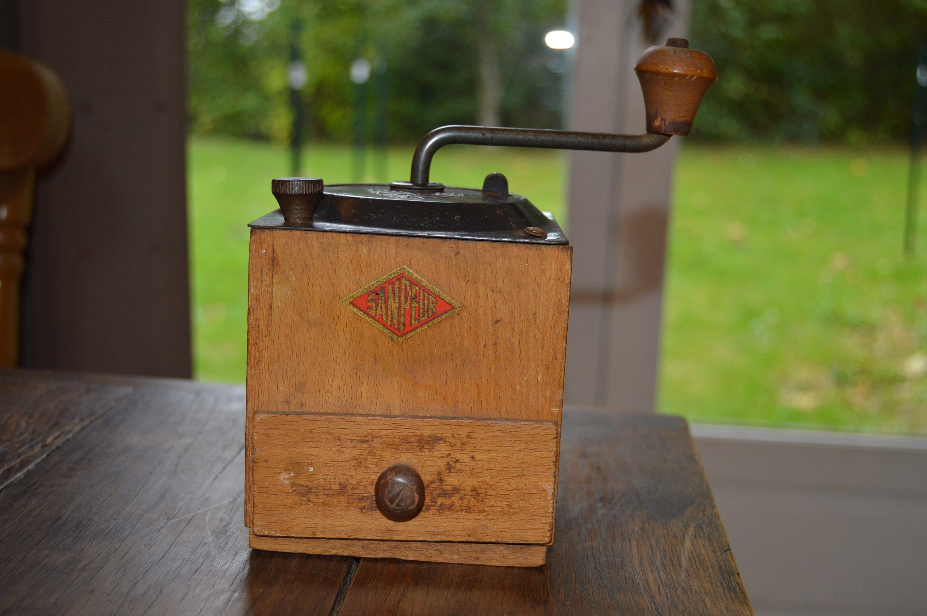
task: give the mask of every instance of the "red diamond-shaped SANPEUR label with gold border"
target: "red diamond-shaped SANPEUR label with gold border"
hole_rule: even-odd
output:
[[[404,265],[341,302],[400,341],[462,308]]]

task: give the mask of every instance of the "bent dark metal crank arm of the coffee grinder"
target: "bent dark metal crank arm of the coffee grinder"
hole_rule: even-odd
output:
[[[597,152],[649,152],[669,141],[668,134],[609,134],[546,129],[503,129],[488,126],[442,126],[429,132],[415,148],[412,158],[412,184],[427,186],[431,159],[438,148],[451,144],[508,145],[544,147],[556,150],[594,150]]]

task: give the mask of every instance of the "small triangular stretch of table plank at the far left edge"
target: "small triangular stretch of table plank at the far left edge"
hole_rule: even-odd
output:
[[[0,371],[0,489],[132,393],[125,385]]]

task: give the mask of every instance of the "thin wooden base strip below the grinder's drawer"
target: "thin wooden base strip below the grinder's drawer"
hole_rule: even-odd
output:
[[[369,559],[463,562],[474,565],[540,567],[547,558],[547,546],[490,543],[444,543],[440,541],[368,541],[365,539],[306,539],[266,537],[250,534],[257,549],[302,554],[335,554]]]

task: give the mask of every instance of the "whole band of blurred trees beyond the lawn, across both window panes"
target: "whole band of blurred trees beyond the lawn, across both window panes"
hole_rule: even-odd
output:
[[[565,67],[542,40],[564,25],[565,2],[189,0],[191,129],[286,140],[286,39],[297,15],[316,138],[349,140],[348,73],[359,56],[386,63],[392,141],[448,123],[556,127]],[[721,73],[695,134],[904,140],[925,42],[927,0],[693,0],[692,46]]]

